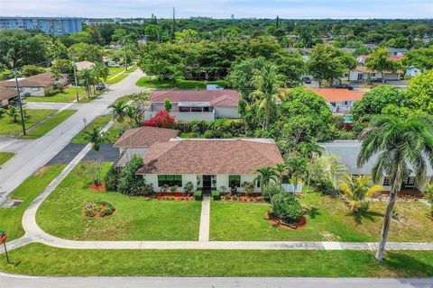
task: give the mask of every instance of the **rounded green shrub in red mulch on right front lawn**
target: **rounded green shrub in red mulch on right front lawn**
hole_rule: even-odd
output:
[[[302,216],[302,206],[293,195],[278,193],[272,196],[270,214],[286,223],[294,224]]]

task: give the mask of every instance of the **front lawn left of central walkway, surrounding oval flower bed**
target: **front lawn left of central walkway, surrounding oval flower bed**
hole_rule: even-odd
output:
[[[104,171],[111,164],[104,164]],[[201,202],[174,202],[93,192],[78,165],[37,212],[41,229],[60,238],[80,240],[197,240]],[[79,172],[81,171],[81,173]],[[83,208],[106,201],[115,213],[87,218]]]

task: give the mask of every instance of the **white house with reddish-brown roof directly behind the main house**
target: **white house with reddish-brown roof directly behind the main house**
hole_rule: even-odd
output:
[[[165,99],[170,99],[170,114],[177,121],[213,121],[217,118],[241,117],[237,112],[241,93],[225,89],[155,91],[144,112],[144,118],[151,119],[157,112],[164,110]]]

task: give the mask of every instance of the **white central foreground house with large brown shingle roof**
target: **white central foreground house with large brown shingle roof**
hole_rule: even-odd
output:
[[[143,175],[155,191],[164,185],[183,187],[188,182],[194,189],[244,191],[244,182],[254,182],[256,170],[284,163],[272,139],[170,139],[149,148],[143,166],[136,174]],[[261,192],[254,184],[254,192]]]

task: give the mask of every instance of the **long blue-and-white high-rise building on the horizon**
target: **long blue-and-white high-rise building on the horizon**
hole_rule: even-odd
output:
[[[82,18],[76,17],[0,17],[0,29],[41,30],[51,35],[82,30]]]

